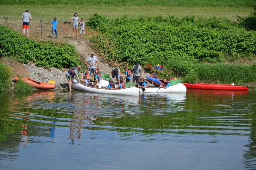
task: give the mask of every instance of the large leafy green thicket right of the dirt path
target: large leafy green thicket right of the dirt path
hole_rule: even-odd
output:
[[[145,64],[154,58],[161,61],[178,58],[197,63],[225,61],[221,57],[223,53],[233,59],[253,59],[256,54],[256,32],[246,31],[225,18],[195,20],[193,16],[183,19],[157,16],[131,19],[123,16],[106,20],[95,14],[88,25],[101,32],[93,38],[93,48],[105,54],[108,60],[131,65]]]

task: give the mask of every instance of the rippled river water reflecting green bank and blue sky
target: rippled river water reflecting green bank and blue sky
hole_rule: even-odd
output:
[[[256,169],[255,91],[0,98],[0,169]]]

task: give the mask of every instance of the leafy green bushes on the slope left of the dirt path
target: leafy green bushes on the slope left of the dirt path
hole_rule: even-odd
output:
[[[23,37],[17,31],[0,25],[0,57],[14,56],[21,63],[35,62],[39,67],[56,67],[58,69],[77,66],[78,52],[74,45],[57,42],[35,42]]]

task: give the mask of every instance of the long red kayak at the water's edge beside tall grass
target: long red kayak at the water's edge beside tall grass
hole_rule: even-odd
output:
[[[248,90],[247,86],[234,86],[230,84],[205,84],[205,83],[182,83],[187,89],[208,89],[208,90]]]

